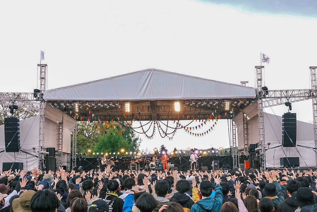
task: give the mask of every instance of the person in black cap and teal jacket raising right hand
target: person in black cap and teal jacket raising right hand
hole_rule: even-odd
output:
[[[213,210],[214,212],[220,212],[222,201],[223,201],[223,193],[222,187],[220,185],[220,177],[214,178],[216,183],[216,194],[215,199],[210,197],[212,192],[212,184],[208,180],[204,180],[200,183],[200,193],[202,199],[193,204],[191,206],[191,212],[203,212],[204,210]]]

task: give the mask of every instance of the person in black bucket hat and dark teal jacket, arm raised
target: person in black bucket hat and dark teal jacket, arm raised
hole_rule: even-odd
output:
[[[265,185],[264,190],[262,191],[262,193],[266,197],[270,198],[273,201],[275,209],[277,209],[278,205],[281,202],[284,202],[285,199],[282,188],[276,180],[276,176],[277,172],[274,170],[272,170],[272,178],[274,179],[272,179],[269,175],[265,176],[268,178],[269,183]]]

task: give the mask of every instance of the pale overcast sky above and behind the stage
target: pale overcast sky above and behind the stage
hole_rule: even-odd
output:
[[[40,50],[49,89],[152,67],[254,87],[260,52],[271,58],[269,89],[309,88],[308,67],[317,65],[315,1],[212,2],[2,1],[0,91],[33,91]],[[287,108],[265,111],[281,115]],[[311,121],[311,100],[294,103],[293,112]],[[141,149],[161,144],[229,147],[227,120],[203,138],[179,130],[171,142],[157,133],[143,138]]]

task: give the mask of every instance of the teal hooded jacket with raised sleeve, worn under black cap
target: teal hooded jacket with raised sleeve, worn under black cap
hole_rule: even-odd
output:
[[[197,203],[201,204],[206,210],[213,210],[214,212],[220,212],[222,201],[223,201],[221,185],[216,185],[215,190],[216,190],[215,199],[213,199],[212,197],[208,197],[208,198],[199,200]],[[203,211],[203,209],[197,203],[191,206],[191,212]]]

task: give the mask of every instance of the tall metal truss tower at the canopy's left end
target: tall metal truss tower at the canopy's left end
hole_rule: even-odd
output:
[[[46,90],[46,68],[47,64],[37,64],[40,67],[40,107],[39,107],[39,163],[38,168],[44,170],[44,122],[45,122],[45,101],[43,99],[44,91]]]

